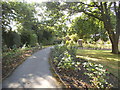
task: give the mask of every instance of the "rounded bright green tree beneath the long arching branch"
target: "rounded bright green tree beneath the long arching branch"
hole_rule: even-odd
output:
[[[96,18],[85,15],[84,13],[72,21],[69,33],[77,33],[79,38],[84,40],[89,38],[93,41],[97,41],[99,38],[103,41],[108,40],[106,31],[103,28],[103,23]]]

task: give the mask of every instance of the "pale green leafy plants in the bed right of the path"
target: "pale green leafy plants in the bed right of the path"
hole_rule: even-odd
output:
[[[57,45],[52,49],[52,59],[54,65],[60,71],[61,69],[64,70],[76,70],[78,69],[78,65],[81,62],[76,61],[76,54],[75,57],[72,56],[74,50],[71,49],[74,45],[70,44],[62,44]],[[91,84],[96,88],[111,88],[112,85],[107,82],[107,77],[109,76],[109,72],[104,69],[104,67],[100,64],[95,64],[91,62],[82,63],[87,72],[85,75],[90,77]]]

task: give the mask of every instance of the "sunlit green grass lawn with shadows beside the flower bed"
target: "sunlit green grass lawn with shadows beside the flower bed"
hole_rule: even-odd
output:
[[[77,57],[102,64],[109,72],[120,79],[120,55],[112,54],[111,50],[77,50]]]

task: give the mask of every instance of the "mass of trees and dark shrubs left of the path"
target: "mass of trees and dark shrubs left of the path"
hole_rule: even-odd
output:
[[[24,44],[27,46],[36,46],[36,43],[53,44],[53,28],[48,26],[48,23],[45,24],[45,21],[42,23],[36,18],[38,13],[35,7],[39,4],[37,6],[37,4],[6,1],[1,4],[3,46],[7,45],[8,48],[12,48],[21,47]],[[12,25],[14,23],[15,25]]]

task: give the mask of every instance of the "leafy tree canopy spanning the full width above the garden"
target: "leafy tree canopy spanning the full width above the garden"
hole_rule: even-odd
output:
[[[61,38],[72,33],[77,33],[79,38],[84,39],[93,37],[94,41],[99,38],[106,41],[109,37],[112,52],[119,52],[119,1],[45,2],[42,4],[2,2],[3,33],[11,31],[11,22],[16,22],[18,34],[29,30],[37,35],[39,43],[49,40],[51,36]],[[36,8],[41,8],[42,12],[38,12]],[[77,18],[75,18],[76,15]],[[39,20],[38,17],[41,19]],[[3,37],[5,38],[5,34]]]

